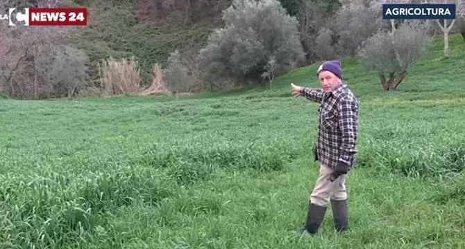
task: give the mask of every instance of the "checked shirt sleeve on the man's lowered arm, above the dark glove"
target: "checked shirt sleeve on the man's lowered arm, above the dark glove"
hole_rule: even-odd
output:
[[[342,133],[339,161],[350,165],[351,158],[357,153],[358,104],[354,98],[341,99],[338,106],[339,127]]]

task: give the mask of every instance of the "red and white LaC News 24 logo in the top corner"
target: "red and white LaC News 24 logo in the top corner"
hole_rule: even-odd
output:
[[[87,8],[9,8],[9,26],[86,26]]]

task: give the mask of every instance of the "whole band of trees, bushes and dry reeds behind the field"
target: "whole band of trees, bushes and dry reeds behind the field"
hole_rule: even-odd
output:
[[[457,9],[464,4],[455,1]],[[88,7],[89,25],[3,22],[1,94],[44,99],[271,86],[292,68],[343,56],[358,57],[391,90],[434,35],[465,39],[464,17],[446,24],[383,20],[373,0],[0,0],[0,7],[51,3]]]

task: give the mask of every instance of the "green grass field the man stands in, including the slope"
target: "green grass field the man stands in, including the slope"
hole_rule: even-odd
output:
[[[344,60],[360,98],[350,231],[296,237],[317,108],[290,83],[169,98],[0,100],[0,248],[465,248],[465,44],[399,91]]]

